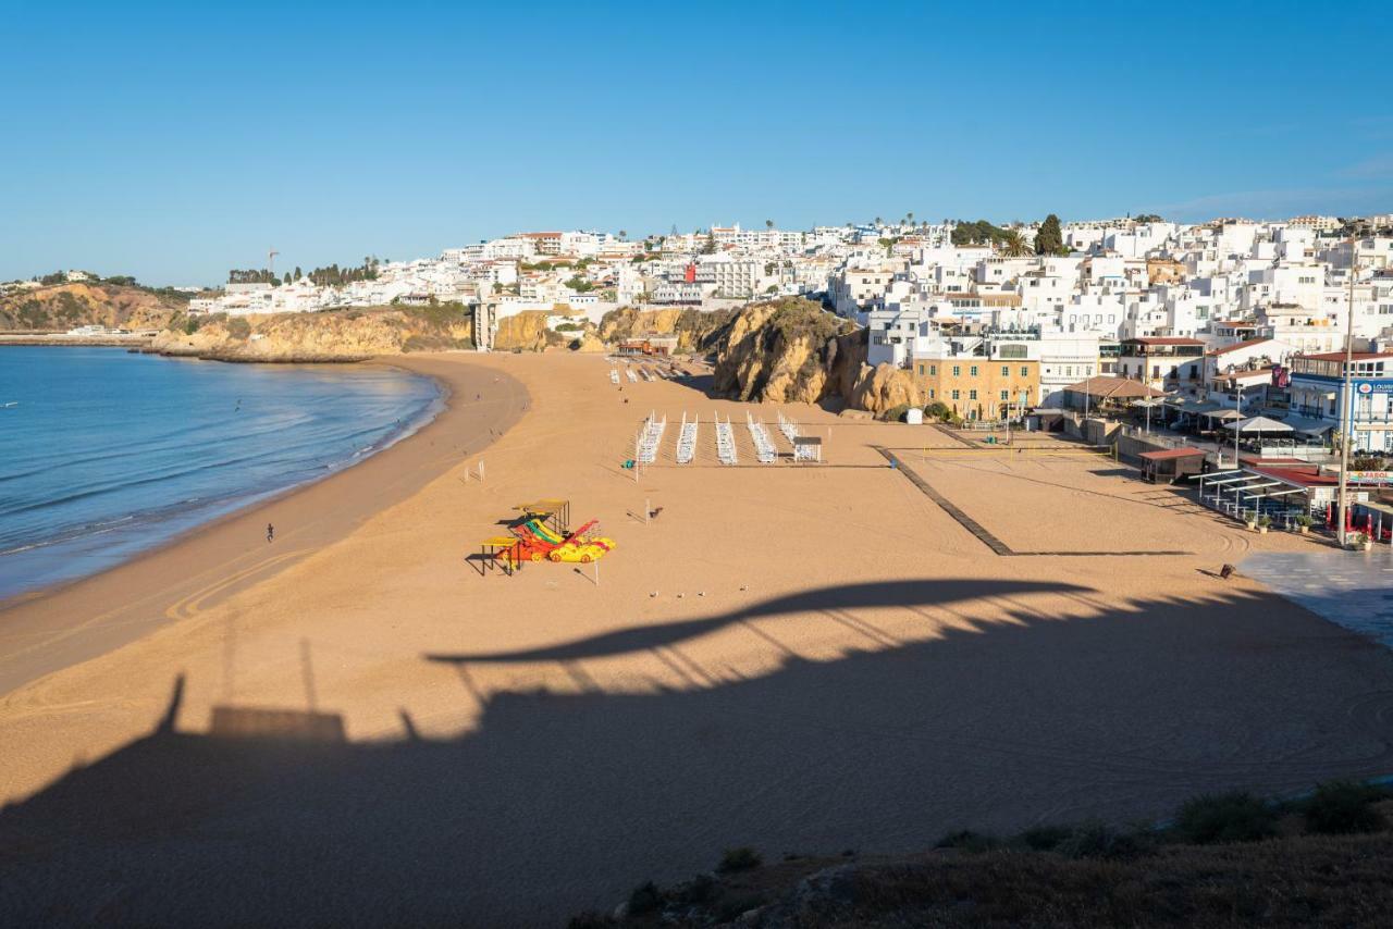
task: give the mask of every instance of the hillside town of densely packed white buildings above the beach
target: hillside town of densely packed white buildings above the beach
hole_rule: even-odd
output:
[[[1393,214],[996,227],[911,213],[765,226],[637,241],[518,233],[437,258],[365,259],[352,274],[336,267],[343,283],[272,272],[196,297],[189,312],[461,304],[486,350],[497,322],[524,311],[574,327],[620,306],[709,311],[804,295],[865,327],[866,361],[907,369],[951,418],[1126,401],[1153,405],[1158,426],[1266,416],[1312,444],[1339,429],[1353,320],[1353,446],[1393,453]]]

